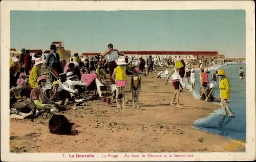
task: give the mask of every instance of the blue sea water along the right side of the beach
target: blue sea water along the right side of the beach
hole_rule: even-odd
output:
[[[198,130],[223,135],[229,138],[238,140],[246,139],[246,77],[244,79],[239,78],[239,69],[243,67],[246,75],[246,64],[229,64],[228,66],[219,67],[219,69],[225,70],[226,76],[230,83],[230,103],[229,106],[236,118],[229,118],[222,115],[223,110],[220,103],[214,103],[220,105],[220,109],[208,115],[208,117],[198,119],[194,122],[193,127]],[[216,68],[209,68],[210,71],[209,81],[212,78],[212,74],[216,72]],[[191,94],[197,99],[200,98],[199,89],[200,76],[199,70],[196,71],[197,83],[195,85],[195,91],[190,90]],[[217,87],[215,87],[213,96],[220,98],[219,78],[217,79]],[[227,111],[227,113],[229,113]]]

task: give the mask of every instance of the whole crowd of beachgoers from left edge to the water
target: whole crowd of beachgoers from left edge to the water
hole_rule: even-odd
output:
[[[29,50],[22,49],[20,54],[11,54],[10,59],[10,118],[25,119],[36,118],[40,113],[55,113],[58,111],[76,110],[79,104],[92,99],[90,91],[95,95],[101,94],[100,86],[109,86],[112,92],[111,101],[101,97],[106,103],[116,102],[117,108],[125,108],[125,87],[128,86],[127,75],[132,75],[131,92],[133,107],[139,107],[138,96],[141,88],[141,77],[153,77],[158,67],[171,67],[172,69],[157,74],[158,78],[170,81],[174,94],[170,105],[182,108],[179,99],[184,88],[195,90],[196,71],[194,66],[200,67],[200,96],[201,100],[208,102],[221,102],[224,115],[229,111],[229,117],[234,117],[228,106],[230,98],[230,85],[224,70],[216,69],[211,75],[206,67],[215,65],[214,60],[174,60],[170,58],[157,58],[149,55],[146,59],[140,57],[124,56],[119,50],[108,44],[108,50],[98,56],[83,57],[78,53],[69,60],[60,59],[55,44],[50,45],[51,52],[42,59],[42,52],[30,55]],[[106,59],[105,56],[108,56]],[[145,70],[145,71],[144,71]],[[144,72],[144,73],[143,73]],[[240,77],[244,72],[240,69]],[[220,98],[212,96],[214,87],[217,87],[217,77],[220,77]],[[191,85],[189,87],[189,85]],[[97,94],[98,91],[98,94]],[[119,100],[122,106],[119,105]],[[174,101],[177,99],[177,103]]]

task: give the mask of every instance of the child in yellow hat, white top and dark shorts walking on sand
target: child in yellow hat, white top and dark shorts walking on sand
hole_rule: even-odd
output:
[[[182,64],[181,61],[176,61],[175,63],[175,68],[170,72],[170,75],[168,76],[168,78],[166,79],[166,83],[165,85],[167,85],[168,80],[170,78],[170,76],[172,76],[172,82],[173,82],[173,86],[174,86],[174,95],[173,95],[173,99],[170,102],[170,105],[172,106],[176,106],[178,108],[183,108],[180,105],[180,91],[183,89],[180,83],[180,74],[179,74],[179,68],[183,67],[184,65]],[[180,89],[181,88],[181,89]],[[177,95],[177,105],[174,105],[174,100],[176,98]]]

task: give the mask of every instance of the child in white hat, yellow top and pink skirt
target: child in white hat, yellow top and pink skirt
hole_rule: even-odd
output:
[[[116,107],[121,108],[118,103],[118,95],[119,95],[119,87],[121,88],[121,94],[122,94],[122,107],[125,108],[124,103],[125,103],[125,87],[128,85],[127,82],[127,75],[126,75],[126,68],[125,65],[125,59],[120,58],[116,61],[116,64],[118,65],[114,73],[112,75],[112,79],[115,80],[116,82]],[[116,79],[115,79],[116,77]]]

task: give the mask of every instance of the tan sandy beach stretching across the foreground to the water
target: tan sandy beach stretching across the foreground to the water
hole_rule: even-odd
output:
[[[156,76],[156,74],[155,74]],[[195,130],[191,125],[218,105],[196,100],[188,90],[181,93],[184,108],[170,106],[171,84],[142,76],[140,108],[126,108],[88,101],[78,110],[62,111],[76,123],[75,136],[49,133],[51,114],[31,120],[10,120],[10,151],[22,152],[224,152],[229,138]],[[130,78],[129,78],[130,81]],[[127,87],[126,90],[129,90]],[[244,143],[232,150],[245,151]]]

